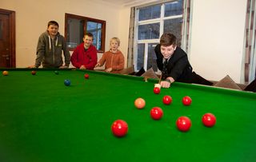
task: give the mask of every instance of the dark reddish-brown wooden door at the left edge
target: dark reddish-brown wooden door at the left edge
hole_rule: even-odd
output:
[[[15,67],[14,11],[0,9],[0,68]]]

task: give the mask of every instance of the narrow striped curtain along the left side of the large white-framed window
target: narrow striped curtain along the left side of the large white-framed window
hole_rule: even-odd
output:
[[[134,18],[135,7],[130,8],[130,29],[129,29],[129,41],[128,41],[128,53],[127,53],[127,67],[134,67]]]

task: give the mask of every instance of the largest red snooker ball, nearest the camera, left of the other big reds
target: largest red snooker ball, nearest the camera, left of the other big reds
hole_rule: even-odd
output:
[[[114,123],[111,126],[111,130],[114,136],[126,136],[126,133],[128,132],[128,124],[126,123],[126,121],[122,120],[114,121]]]

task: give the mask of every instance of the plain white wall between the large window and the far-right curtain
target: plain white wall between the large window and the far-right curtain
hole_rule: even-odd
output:
[[[242,77],[246,0],[194,0],[190,63],[194,71],[219,81]]]

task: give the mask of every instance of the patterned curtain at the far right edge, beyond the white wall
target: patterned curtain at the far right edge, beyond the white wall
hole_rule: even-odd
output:
[[[245,31],[245,45],[244,45],[244,81],[250,83],[256,77],[256,41],[255,41],[255,0],[247,0],[246,10],[246,31]]]

